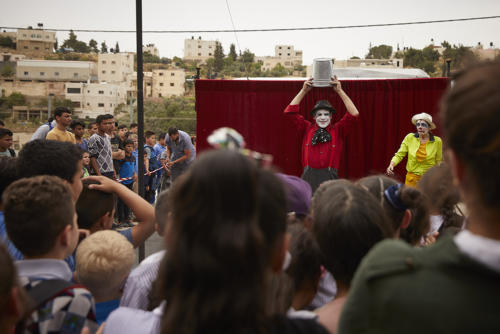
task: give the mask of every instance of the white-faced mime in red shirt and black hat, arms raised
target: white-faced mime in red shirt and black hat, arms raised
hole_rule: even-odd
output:
[[[354,128],[359,118],[359,112],[349,96],[342,90],[337,76],[331,78],[330,85],[340,96],[347,108],[347,113],[334,124],[331,123],[335,108],[326,100],[320,100],[310,111],[314,123],[304,119],[299,114],[299,104],[304,96],[312,89],[312,78],[306,80],[300,92],[285,109],[285,116],[293,119],[297,131],[303,136],[302,140],[302,178],[313,190],[327,180],[338,178],[338,169],[344,138]]]

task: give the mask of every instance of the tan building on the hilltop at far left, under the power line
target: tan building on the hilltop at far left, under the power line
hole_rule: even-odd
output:
[[[54,52],[56,33],[43,29],[18,29],[16,49],[23,52],[42,54]]]

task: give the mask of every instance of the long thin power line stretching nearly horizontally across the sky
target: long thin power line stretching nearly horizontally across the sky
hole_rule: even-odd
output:
[[[220,30],[144,30],[144,34],[193,34],[193,33],[235,33],[235,32],[276,32],[276,31],[307,31],[307,30],[334,30],[334,29],[354,29],[354,28],[376,28],[376,27],[393,27],[405,25],[419,24],[434,24],[434,23],[450,23],[464,21],[479,21],[498,19],[500,15],[495,16],[480,16],[467,17],[460,19],[446,20],[431,20],[431,21],[414,21],[414,22],[396,22],[396,23],[375,23],[375,24],[359,24],[346,26],[330,26],[330,27],[297,27],[297,28],[268,28],[268,29],[220,29]],[[26,29],[24,27],[0,27],[0,29]],[[36,29],[34,29],[36,30]],[[70,31],[74,32],[105,32],[105,33],[135,33],[135,30],[102,30],[102,29],[49,29],[49,31]]]

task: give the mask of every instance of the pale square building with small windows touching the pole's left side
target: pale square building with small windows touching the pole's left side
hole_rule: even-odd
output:
[[[100,53],[97,60],[99,82],[125,82],[134,72],[134,54]]]

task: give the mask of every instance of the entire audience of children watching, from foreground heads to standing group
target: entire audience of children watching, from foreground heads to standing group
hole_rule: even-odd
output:
[[[499,110],[500,63],[457,75],[445,162],[417,188],[374,175],[312,193],[218,149],[156,200],[154,133],[142,198],[117,181],[143,177],[137,135],[120,127],[111,141],[111,115],[90,138],[72,122],[75,143],[35,139],[0,157],[0,332],[499,332]],[[113,231],[128,210],[137,225]],[[165,249],[133,268],[155,230]]]

